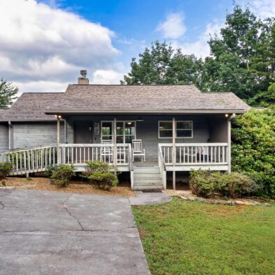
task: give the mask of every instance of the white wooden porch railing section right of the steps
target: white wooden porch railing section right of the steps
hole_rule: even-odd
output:
[[[165,165],[173,165],[173,144],[159,144]],[[177,143],[175,165],[227,165],[228,143]]]

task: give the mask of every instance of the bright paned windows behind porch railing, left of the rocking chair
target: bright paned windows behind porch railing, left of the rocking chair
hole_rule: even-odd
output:
[[[101,139],[113,140],[113,121],[101,121]],[[135,140],[135,121],[117,121],[117,143]]]

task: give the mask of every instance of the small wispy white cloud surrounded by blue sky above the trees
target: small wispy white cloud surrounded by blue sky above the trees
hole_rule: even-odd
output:
[[[156,31],[160,31],[164,38],[177,39],[186,32],[183,13],[170,13],[164,22],[158,24]]]

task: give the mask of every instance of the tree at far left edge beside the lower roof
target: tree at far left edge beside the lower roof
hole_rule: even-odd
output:
[[[8,107],[13,103],[18,92],[18,87],[15,87],[12,83],[6,80],[0,80],[0,107]]]

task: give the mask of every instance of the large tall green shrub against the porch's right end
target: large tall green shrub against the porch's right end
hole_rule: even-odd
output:
[[[232,123],[232,170],[260,186],[258,195],[275,198],[275,107],[250,110]]]

